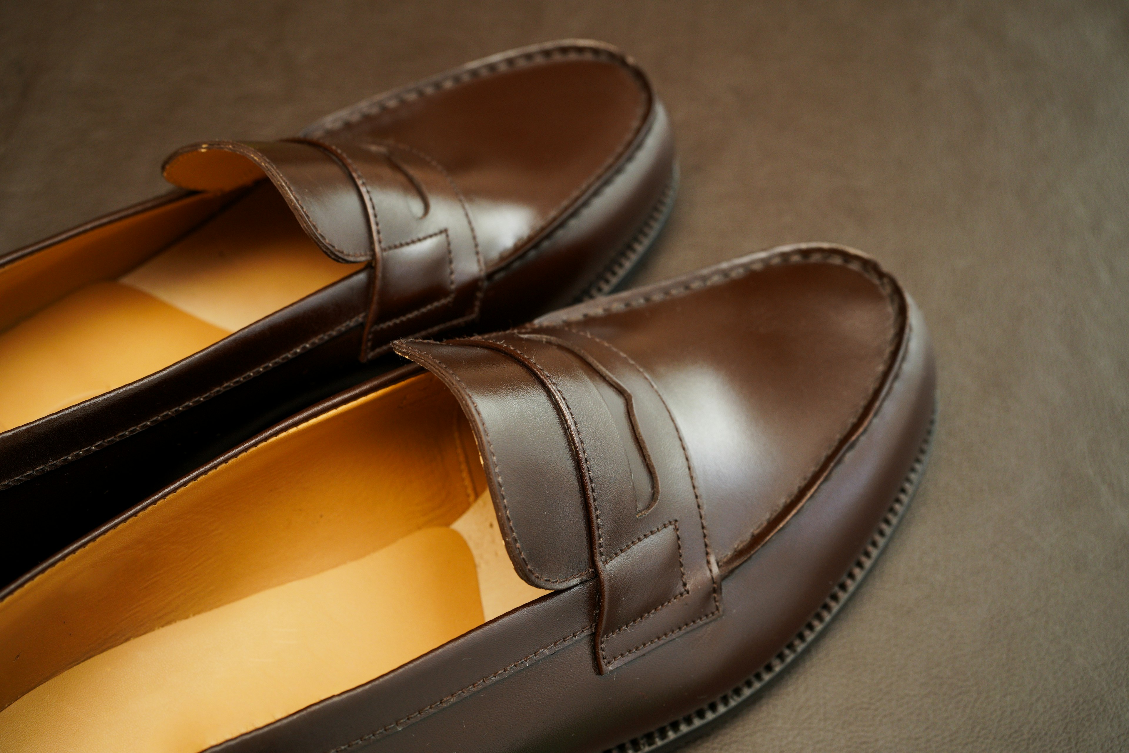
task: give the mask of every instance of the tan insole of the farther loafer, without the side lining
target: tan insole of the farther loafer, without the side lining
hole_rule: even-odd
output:
[[[119,281],[0,333],[0,431],[140,379],[356,271],[262,184]]]

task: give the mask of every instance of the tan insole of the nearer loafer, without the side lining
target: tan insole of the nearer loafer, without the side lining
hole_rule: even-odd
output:
[[[484,494],[463,535],[423,528],[87,659],[0,712],[0,750],[195,753],[356,688],[544,593],[492,518]]]

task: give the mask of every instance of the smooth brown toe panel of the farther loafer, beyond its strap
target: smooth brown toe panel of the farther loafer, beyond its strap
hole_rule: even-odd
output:
[[[391,141],[434,157],[462,189],[493,268],[624,154],[653,103],[649,84],[618,53],[558,43],[384,95],[303,135]]]

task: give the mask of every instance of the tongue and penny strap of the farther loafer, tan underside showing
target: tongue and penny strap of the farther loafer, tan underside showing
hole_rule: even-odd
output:
[[[361,360],[396,338],[478,315],[484,268],[471,214],[443,167],[386,141],[212,141],[165,163],[195,191],[234,191],[269,178],[309,237],[343,263],[373,264]]]

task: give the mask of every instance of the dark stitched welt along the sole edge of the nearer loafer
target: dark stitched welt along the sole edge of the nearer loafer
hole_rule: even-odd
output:
[[[875,560],[878,559],[878,554],[882,553],[882,550],[885,549],[886,543],[890,541],[890,534],[893,533],[899,522],[901,522],[907,506],[909,506],[921,482],[922,472],[929,461],[929,450],[933,447],[936,426],[937,404],[935,400],[933,418],[929,420],[929,427],[926,429],[925,439],[921,441],[920,448],[918,448],[913,464],[910,466],[905,480],[898,490],[893,504],[886,510],[886,515],[883,516],[877,529],[870,537],[870,542],[866,545],[858,560],[855,561],[854,567],[851,567],[843,579],[831,592],[826,601],[823,602],[820,608],[815,611],[815,614],[812,615],[812,619],[807,621],[807,624],[796,633],[796,637],[787,646],[780,649],[768,664],[758,669],[752,677],[749,677],[733,690],[723,693],[720,698],[710,701],[684,717],[663,725],[658,729],[653,729],[625,743],[620,743],[615,747],[607,748],[604,753],[641,753],[644,751],[654,751],[672,743],[689,743],[698,736],[697,733],[706,733],[706,728],[710,723],[716,721],[723,713],[732,710],[738,703],[764,688],[770,680],[779,675],[780,671],[799,656],[805,648],[811,646],[816,636],[831,621],[831,618],[847,603],[847,599],[863,581],[863,578],[866,577],[866,573],[870,571]]]

